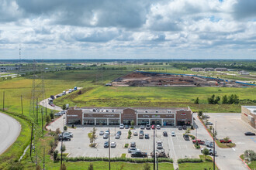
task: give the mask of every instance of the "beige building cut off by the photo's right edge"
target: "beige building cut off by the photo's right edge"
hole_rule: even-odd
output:
[[[242,106],[241,119],[256,128],[256,106]]]

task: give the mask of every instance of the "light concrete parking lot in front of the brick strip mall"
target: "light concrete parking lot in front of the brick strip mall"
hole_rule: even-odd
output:
[[[99,131],[106,131],[108,128],[106,127],[96,127],[97,138],[95,143],[97,143],[96,148],[90,148],[90,141],[88,138],[88,133],[92,131],[92,127],[81,127],[76,129],[69,128],[68,131],[71,131],[74,134],[74,138],[71,141],[64,141],[64,145],[66,146],[67,153],[70,153],[69,157],[79,157],[79,156],[88,156],[88,157],[108,157],[109,149],[104,148],[104,142],[108,141],[108,139],[103,139],[102,135],[99,135]],[[130,142],[136,142],[136,148],[140,149],[140,151],[147,152],[150,155],[150,152],[153,151],[154,144],[154,130],[144,129],[144,134],[150,134],[150,139],[139,139],[138,136],[133,136],[128,139],[128,131],[129,129],[119,129],[119,126],[110,127],[110,142],[116,141],[116,148],[111,148],[111,157],[120,157],[122,154],[127,154],[126,157],[130,158],[130,154],[128,154],[128,148],[124,148],[125,144],[130,144]],[[115,131],[121,131],[121,137],[119,139],[115,139]],[[133,131],[140,132],[140,127],[136,127]],[[168,137],[163,136],[163,131],[168,132]],[[176,136],[171,137],[171,131],[175,131]],[[183,133],[185,130],[178,130],[178,128],[161,128],[161,130],[156,130],[156,138],[155,141],[162,141],[163,148],[166,153],[168,153],[171,158],[198,158],[200,155],[200,151],[193,148],[192,141],[185,141],[183,138]],[[60,143],[58,145],[58,148]]]

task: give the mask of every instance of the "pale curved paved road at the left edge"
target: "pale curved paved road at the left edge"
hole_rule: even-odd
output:
[[[14,118],[0,113],[0,155],[18,138],[21,126]]]

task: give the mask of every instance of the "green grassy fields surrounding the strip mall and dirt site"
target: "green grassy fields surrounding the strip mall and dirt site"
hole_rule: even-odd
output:
[[[232,93],[237,94],[240,99],[256,100],[256,88],[225,88],[225,87],[104,87],[119,76],[123,76],[134,70],[135,66],[127,67],[127,70],[62,70],[58,72],[49,72],[45,74],[46,97],[61,93],[73,87],[83,87],[82,94],[74,92],[54,100],[54,103],[62,106],[70,104],[71,106],[94,106],[94,107],[191,107],[193,111],[203,110],[207,112],[240,112],[240,104],[207,104],[207,97],[212,94],[222,97]],[[155,66],[155,68],[161,68]],[[164,67],[163,67],[164,68]],[[162,69],[163,69],[162,68]],[[166,70],[171,72],[171,66]],[[158,70],[163,71],[163,70]],[[175,70],[181,72],[181,70]],[[184,71],[185,72],[185,71]],[[189,71],[186,71],[189,72]],[[39,81],[39,80],[37,80]],[[22,124],[22,133],[19,138],[9,148],[5,154],[0,156],[0,169],[8,168],[10,162],[14,162],[22,155],[22,151],[29,142],[30,129],[29,122],[33,121],[32,115],[29,115],[29,104],[31,95],[32,80],[31,76],[19,77],[12,80],[0,81],[0,108],[2,108],[2,94],[5,91],[5,111],[15,114],[21,114],[20,96],[23,98],[23,110],[27,120],[17,118]],[[194,104],[196,97],[199,97],[200,104]],[[50,110],[47,110],[50,113]],[[39,120],[40,122],[40,120]],[[40,123],[36,126],[36,131],[40,131]],[[36,140],[40,132],[36,134]],[[49,145],[49,144],[47,144]],[[42,146],[39,147],[39,161],[42,165]],[[35,156],[33,152],[33,156]],[[22,160],[26,168],[34,168],[35,165],[29,161],[28,151]],[[50,155],[46,158],[48,168],[59,168],[59,163],[54,163]],[[120,165],[121,162],[113,162]],[[67,162],[68,169],[88,166],[88,162]],[[95,164],[97,169],[105,167],[106,162]],[[140,169],[141,164],[124,163],[124,169]],[[193,164],[194,165],[194,164]],[[182,165],[183,166],[183,165]],[[185,166],[185,164],[184,164]],[[140,168],[138,168],[140,167]],[[171,167],[171,164],[161,163],[160,169]],[[118,168],[118,167],[117,167]],[[170,169],[170,168],[167,168]]]

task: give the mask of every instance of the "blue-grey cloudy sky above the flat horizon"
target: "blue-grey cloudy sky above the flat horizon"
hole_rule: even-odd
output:
[[[256,59],[256,0],[0,0],[0,59]]]

